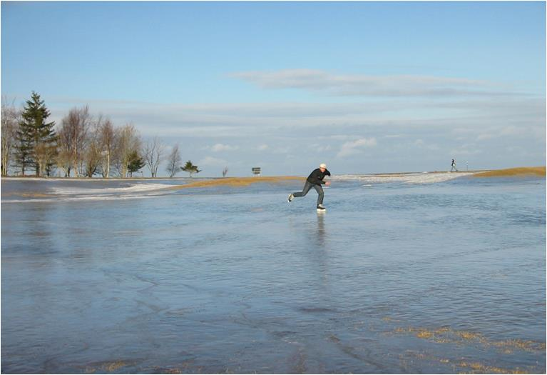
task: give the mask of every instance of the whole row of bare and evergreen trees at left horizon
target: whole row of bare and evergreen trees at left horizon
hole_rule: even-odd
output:
[[[51,115],[36,92],[23,109],[14,104],[1,103],[1,175],[9,171],[26,176],[65,177],[111,176],[132,177],[148,166],[152,177],[167,160],[170,177],[180,171],[200,172],[188,160],[182,164],[178,145],[165,154],[165,145],[156,136],[143,142],[133,124],[114,126],[103,115],[92,116],[88,106],[75,107],[61,119],[61,124],[48,121]],[[223,171],[228,172],[228,169]]]

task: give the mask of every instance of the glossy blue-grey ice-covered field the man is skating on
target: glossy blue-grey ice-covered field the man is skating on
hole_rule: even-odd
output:
[[[546,372],[544,176],[189,184],[2,180],[2,373]]]

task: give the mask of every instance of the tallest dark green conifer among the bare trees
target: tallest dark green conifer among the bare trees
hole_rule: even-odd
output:
[[[53,156],[56,153],[55,122],[46,122],[50,112],[40,99],[39,94],[32,91],[31,100],[21,113],[19,131],[16,139],[16,161],[24,175],[29,166],[36,168],[36,176],[45,170],[51,171]]]

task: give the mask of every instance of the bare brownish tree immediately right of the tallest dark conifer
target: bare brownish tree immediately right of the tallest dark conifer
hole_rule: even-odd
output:
[[[63,147],[66,147],[69,151],[71,168],[74,169],[76,177],[83,174],[83,162],[90,124],[89,107],[83,106],[80,109],[71,109],[68,115],[63,117],[61,129],[58,130],[58,134],[63,134]],[[70,174],[70,171],[68,174]]]

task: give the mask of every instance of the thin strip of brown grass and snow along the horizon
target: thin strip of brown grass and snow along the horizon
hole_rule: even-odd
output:
[[[504,177],[504,176],[546,176],[546,166],[522,166],[517,168],[508,169],[479,169],[472,171],[428,171],[428,172],[394,172],[394,173],[374,173],[374,174],[355,174],[355,176],[378,176],[378,177],[390,177],[390,176],[407,176],[409,174],[441,174],[441,173],[454,173],[454,174],[471,174],[473,177]],[[6,180],[21,180],[21,181],[195,181],[196,183],[205,182],[204,180],[220,180],[226,181],[225,184],[232,184],[233,181],[238,180],[236,184],[244,183],[247,179],[250,181],[265,181],[272,182],[276,179],[304,179],[305,176],[233,176],[233,177],[130,177],[121,179],[119,177],[105,179],[103,177],[36,177],[36,176],[1,176],[1,179]],[[252,182],[250,182],[252,183]],[[221,183],[222,184],[222,183]]]

